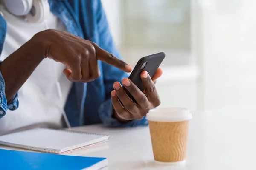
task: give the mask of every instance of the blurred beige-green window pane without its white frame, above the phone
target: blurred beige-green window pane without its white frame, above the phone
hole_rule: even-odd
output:
[[[123,45],[190,50],[189,0],[123,0]]]

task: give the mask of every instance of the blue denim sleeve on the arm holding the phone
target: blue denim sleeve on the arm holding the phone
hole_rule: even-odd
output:
[[[118,50],[116,49],[113,43],[111,32],[108,26],[108,21],[100,0],[98,0],[98,3],[97,3],[96,14],[97,14],[97,21],[98,21],[97,25],[98,25],[98,32],[99,32],[99,46],[105,49],[106,51],[112,53],[116,57],[121,58]],[[113,126],[113,127],[118,127],[118,126],[134,127],[137,125],[147,125],[148,121],[145,119],[145,117],[141,120],[131,120],[125,123],[121,123],[117,119],[114,119],[112,117],[113,106],[111,102],[110,93],[113,90],[113,83],[116,81],[118,82],[122,81],[123,78],[128,77],[128,74],[104,62],[102,64],[102,67],[103,67],[106,101],[100,105],[99,117],[104,123],[104,125]]]

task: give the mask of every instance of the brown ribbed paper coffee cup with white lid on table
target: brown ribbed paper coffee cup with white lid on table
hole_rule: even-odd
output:
[[[185,161],[192,115],[186,108],[157,108],[148,112],[155,161],[179,164]]]

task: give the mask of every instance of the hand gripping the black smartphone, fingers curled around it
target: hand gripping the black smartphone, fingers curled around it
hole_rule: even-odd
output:
[[[146,71],[140,74],[145,87],[144,93],[140,91],[130,79],[125,78],[122,80],[122,84],[127,88],[134,99],[136,99],[138,104],[135,104],[127,96],[119,82],[115,82],[113,84],[115,90],[111,91],[112,104],[115,109],[114,116],[119,119],[119,121],[142,119],[150,109],[159,106],[160,99],[157,89],[155,88],[155,82],[162,74],[163,71],[160,68],[157,69],[152,79]],[[123,103],[124,107],[122,107],[119,100]]]

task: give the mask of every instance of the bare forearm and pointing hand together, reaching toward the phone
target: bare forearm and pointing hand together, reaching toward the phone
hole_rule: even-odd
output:
[[[46,57],[66,65],[63,72],[70,81],[89,82],[99,78],[98,60],[126,72],[132,70],[93,42],[64,31],[45,30],[35,34],[0,64],[8,102]]]

